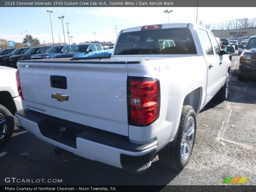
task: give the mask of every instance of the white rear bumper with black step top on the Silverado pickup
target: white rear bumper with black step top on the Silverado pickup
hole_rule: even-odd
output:
[[[128,137],[30,110],[20,110],[15,115],[26,130],[41,140],[78,156],[131,172],[146,170],[156,155],[158,141],[136,144]]]

